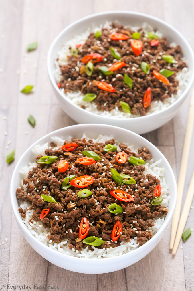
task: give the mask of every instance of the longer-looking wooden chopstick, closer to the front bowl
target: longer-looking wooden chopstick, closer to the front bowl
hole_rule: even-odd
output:
[[[174,216],[172,218],[170,250],[173,249],[175,236],[177,232],[177,226],[179,223],[179,216],[181,212],[181,203],[182,203],[182,198],[183,198],[186,169],[187,169],[188,156],[189,156],[189,150],[190,150],[190,145],[191,145],[191,136],[193,132],[193,122],[194,122],[194,90],[192,91],[192,96],[191,96],[191,101],[190,101],[185,141],[184,141],[183,153],[182,153],[182,158],[181,158],[181,166],[180,166],[180,171],[179,171],[179,180],[178,180],[178,185],[177,185],[177,205],[175,208]]]

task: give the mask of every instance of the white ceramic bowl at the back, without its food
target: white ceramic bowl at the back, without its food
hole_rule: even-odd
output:
[[[60,50],[62,45],[70,40],[75,34],[84,32],[92,24],[99,26],[106,21],[118,20],[124,25],[141,26],[143,22],[151,24],[154,28],[157,28],[165,37],[169,39],[170,42],[176,42],[181,46],[183,55],[187,60],[189,69],[189,81],[183,94],[177,99],[173,104],[157,113],[152,113],[150,115],[136,117],[136,118],[108,118],[105,116],[100,116],[89,111],[82,109],[81,107],[73,104],[70,99],[65,97],[65,95],[58,88],[55,78],[54,78],[54,61],[57,56],[57,52]],[[111,11],[93,14],[80,20],[73,22],[67,26],[63,31],[61,31],[58,36],[53,41],[47,58],[47,68],[51,84],[54,87],[54,91],[58,98],[59,104],[62,109],[77,123],[102,123],[120,126],[122,128],[130,129],[138,134],[143,134],[154,130],[172,119],[177,111],[179,110],[181,104],[186,99],[188,92],[193,84],[194,80],[194,54],[191,46],[187,40],[182,36],[179,31],[173,28],[170,24],[153,17],[151,15],[146,15],[138,12],[128,12],[128,11]]]

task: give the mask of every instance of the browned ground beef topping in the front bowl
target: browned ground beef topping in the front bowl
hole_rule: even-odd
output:
[[[57,156],[58,158],[52,164],[37,164],[29,171],[28,178],[23,180],[24,187],[17,188],[17,198],[31,202],[30,209],[33,209],[33,215],[30,222],[41,221],[45,227],[50,228],[49,240],[60,243],[63,239],[69,239],[70,249],[75,248],[80,251],[81,248],[88,246],[79,239],[79,225],[81,219],[86,217],[90,223],[88,236],[102,238],[105,242],[99,246],[115,247],[120,242],[129,242],[132,238],[137,238],[137,243],[144,244],[152,237],[148,229],[154,226],[153,219],[167,214],[168,209],[160,205],[152,205],[154,198],[154,189],[160,181],[152,175],[144,175],[145,166],[130,164],[127,160],[124,164],[119,164],[115,152],[105,152],[104,146],[114,144],[114,139],[105,143],[94,143],[91,139],[74,139],[65,141],[67,143],[76,143],[78,147],[71,152],[64,152],[59,148],[48,148],[45,155]],[[53,143],[52,143],[53,145]],[[138,153],[133,152],[125,144],[119,143],[122,151],[130,156],[149,160],[152,155],[147,148],[139,148]],[[97,153],[101,160],[95,164],[82,165],[76,162],[83,157],[84,150],[92,150]],[[42,156],[38,155],[36,161]],[[64,173],[58,171],[60,160],[66,160],[69,168]],[[111,168],[117,170],[120,174],[129,175],[136,180],[136,184],[118,185],[112,178]],[[68,175],[90,175],[94,177],[94,182],[87,189],[92,191],[92,195],[86,198],[77,196],[80,188],[71,186],[66,191],[61,190],[64,178]],[[132,202],[122,202],[115,199],[110,191],[121,189],[134,197]],[[54,197],[57,203],[48,203],[42,199],[41,194]],[[108,206],[117,203],[123,207],[124,211],[120,214],[112,214],[108,211]],[[40,219],[40,213],[43,209],[50,208],[50,212],[43,219]],[[19,208],[22,217],[25,217],[26,210]],[[122,223],[122,234],[117,242],[111,241],[111,232],[115,222],[119,220]],[[90,248],[90,246],[88,246]]]

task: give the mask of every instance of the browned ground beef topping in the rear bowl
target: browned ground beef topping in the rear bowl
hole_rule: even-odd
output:
[[[109,35],[112,32],[124,33],[131,37],[133,30],[124,28],[120,24],[111,24],[111,29],[102,29],[102,35],[95,38],[94,33],[90,33],[86,42],[78,48],[78,54],[75,56],[68,56],[68,63],[61,65],[61,87],[64,92],[81,91],[84,95],[87,93],[96,94],[97,97],[92,101],[95,102],[97,109],[102,111],[111,111],[118,107],[122,111],[120,101],[126,102],[131,108],[134,115],[145,115],[149,111],[150,106],[144,108],[143,96],[148,87],[151,88],[152,101],[161,100],[171,97],[171,94],[177,93],[177,86],[179,82],[175,80],[177,72],[186,67],[185,60],[181,59],[181,48],[179,45],[172,47],[167,38],[159,39],[159,45],[151,46],[151,38],[145,37],[142,28],[138,29],[141,32],[139,40],[143,42],[143,50],[139,56],[136,56],[131,48],[131,38],[127,40],[112,40]],[[99,67],[110,67],[118,60],[114,59],[110,48],[119,52],[121,60],[126,65],[114,71],[111,75],[104,75]],[[71,49],[71,47],[70,47]],[[74,49],[74,48],[72,48]],[[88,76],[85,72],[84,64],[81,62],[82,58],[88,54],[99,53],[103,56],[102,61],[94,64],[93,73]],[[171,55],[175,58],[176,63],[167,63],[162,59],[162,55]],[[145,74],[141,70],[141,62],[146,62],[150,66],[149,74]],[[170,86],[159,81],[154,77],[153,70],[159,72],[161,69],[167,69],[175,72],[168,79]],[[133,80],[133,88],[129,88],[124,83],[124,73]],[[115,88],[115,92],[107,92],[99,89],[94,80],[105,81]],[[85,109],[85,106],[82,106]]]

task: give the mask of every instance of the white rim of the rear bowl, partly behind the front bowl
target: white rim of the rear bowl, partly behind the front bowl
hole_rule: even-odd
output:
[[[67,101],[68,103],[70,103],[73,107],[79,107],[78,105],[74,104],[73,102],[71,102],[67,97],[65,97],[65,95],[60,91],[60,89],[58,88],[57,84],[56,84],[56,81],[55,81],[55,78],[54,78],[54,72],[52,70],[52,50],[55,46],[55,43],[60,39],[60,37],[65,33],[65,31],[67,31],[68,29],[70,29],[70,27],[74,26],[75,24],[79,23],[79,22],[82,22],[83,20],[86,20],[86,19],[92,19],[93,17],[96,17],[96,16],[100,16],[100,15],[107,15],[107,14],[128,14],[128,15],[140,15],[140,16],[144,16],[147,18],[147,21],[149,22],[149,19],[153,19],[155,20],[156,22],[159,22],[161,24],[163,24],[164,26],[172,29],[175,33],[177,33],[179,35],[180,38],[182,38],[182,40],[185,42],[185,45],[188,47],[189,49],[189,52],[191,54],[191,59],[192,59],[192,63],[193,63],[193,67],[194,67],[194,53],[193,53],[193,50],[190,46],[190,44],[188,43],[188,41],[186,40],[186,38],[177,30],[175,29],[172,25],[168,24],[167,22],[157,18],[157,17],[154,17],[154,16],[151,16],[151,15],[148,15],[148,14],[145,14],[145,13],[140,13],[140,12],[132,12],[132,11],[123,11],[123,10],[120,10],[120,11],[107,11],[107,12],[100,12],[100,13],[95,13],[95,14],[92,14],[92,15],[88,15],[86,17],[83,17],[81,19],[78,19],[76,20],[75,22],[69,24],[65,29],[63,29],[59,34],[58,36],[54,39],[54,41],[52,42],[51,46],[50,46],[50,49],[49,49],[49,52],[48,52],[48,57],[47,57],[47,69],[48,69],[48,74],[49,74],[49,78],[51,80],[51,83],[52,85],[54,86],[54,88],[58,91],[58,93],[60,94],[60,96],[65,99],[65,101]],[[116,20],[116,19],[115,19]],[[194,70],[192,70],[191,72],[191,78],[188,82],[188,85],[186,86],[184,92],[182,93],[182,95],[177,99],[175,100],[175,102],[173,102],[172,104],[170,104],[168,107],[166,107],[165,109],[159,111],[159,112],[154,112],[154,113],[151,113],[150,115],[154,115],[154,116],[162,116],[164,112],[168,112],[171,110],[171,108],[175,105],[175,104],[179,104],[181,103],[181,100],[184,99],[184,97],[188,94],[189,90],[191,89],[191,86],[193,84],[193,81],[194,81]],[[79,107],[79,109],[82,111],[82,113],[84,114],[85,109]],[[87,114],[90,115],[90,118],[92,118],[92,116],[96,116],[96,115],[99,115],[99,114],[96,114],[96,113],[92,113],[90,111],[87,111]],[[150,115],[145,115],[145,116],[139,116],[139,117],[134,117],[136,120],[139,120],[141,118],[141,121],[144,121],[146,122],[146,119],[149,118]],[[106,122],[107,119],[110,119],[110,117],[107,117],[107,116],[101,116],[100,117],[102,119],[104,119],[104,122]],[[118,120],[118,118],[113,118],[111,117],[112,120]],[[119,120],[130,120],[131,118],[119,118]]]

